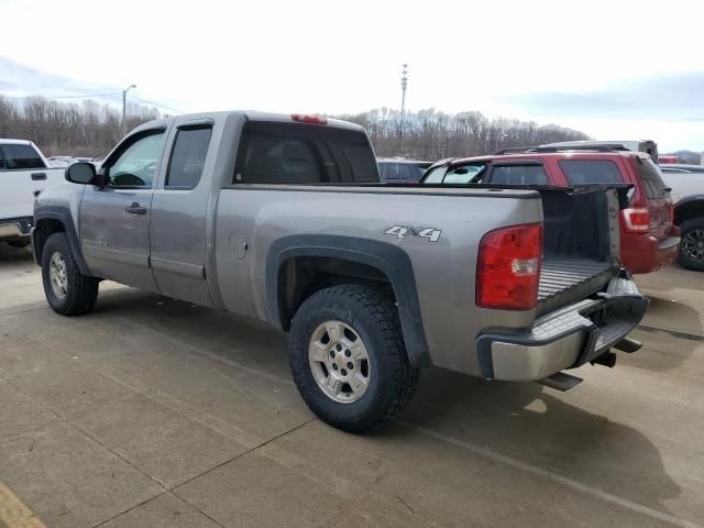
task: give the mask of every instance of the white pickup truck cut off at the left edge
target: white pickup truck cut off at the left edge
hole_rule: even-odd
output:
[[[48,168],[31,141],[0,139],[0,240],[22,248],[30,243],[34,198],[47,186],[64,183],[63,168]]]

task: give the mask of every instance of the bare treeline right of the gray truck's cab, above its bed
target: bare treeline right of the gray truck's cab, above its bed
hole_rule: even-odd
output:
[[[588,139],[582,132],[554,124],[488,119],[481,112],[444,113],[428,109],[406,113],[402,141],[400,112],[397,110],[382,108],[336,117],[364,127],[380,157],[402,155],[435,161],[487,154],[509,146]]]

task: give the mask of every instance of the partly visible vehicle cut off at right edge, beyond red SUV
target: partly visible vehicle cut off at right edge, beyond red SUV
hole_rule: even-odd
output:
[[[688,270],[704,272],[704,167],[660,168],[674,201],[673,223],[682,232],[678,262]]]

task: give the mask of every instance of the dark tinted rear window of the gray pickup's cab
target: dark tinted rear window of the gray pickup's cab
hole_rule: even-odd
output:
[[[235,184],[377,183],[366,135],[318,124],[250,121],[244,125]]]

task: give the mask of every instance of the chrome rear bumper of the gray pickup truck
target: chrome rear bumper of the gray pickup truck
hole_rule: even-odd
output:
[[[530,332],[481,334],[476,351],[482,376],[538,381],[583,365],[623,340],[647,308],[648,299],[623,273],[605,293],[541,317]]]

